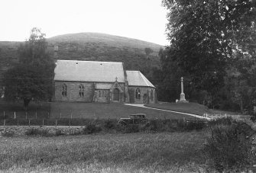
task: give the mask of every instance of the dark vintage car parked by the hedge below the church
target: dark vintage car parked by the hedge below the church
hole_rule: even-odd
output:
[[[145,124],[148,122],[146,114],[131,114],[131,117],[120,118],[118,124],[122,126],[127,126],[131,124]]]

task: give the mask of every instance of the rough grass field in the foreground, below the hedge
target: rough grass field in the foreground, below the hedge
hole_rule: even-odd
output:
[[[206,132],[0,139],[2,171],[186,172],[205,168]]]

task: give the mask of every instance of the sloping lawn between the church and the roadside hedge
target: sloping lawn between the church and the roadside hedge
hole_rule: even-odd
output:
[[[22,102],[7,103],[0,101],[0,117],[8,118],[25,118],[25,111]],[[31,102],[28,107],[28,118],[103,118],[118,119],[120,117],[129,117],[130,114],[143,113],[147,114],[147,118],[161,119],[193,119],[194,117],[170,113],[167,111],[151,110],[143,107],[132,107],[121,103],[97,104],[97,103],[67,103],[52,102],[36,104]]]

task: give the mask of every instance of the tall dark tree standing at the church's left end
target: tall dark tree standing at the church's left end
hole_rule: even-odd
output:
[[[8,69],[4,75],[5,99],[24,101],[49,100],[52,95],[52,82],[55,63],[47,53],[45,34],[34,27],[29,39],[19,46],[19,63]]]

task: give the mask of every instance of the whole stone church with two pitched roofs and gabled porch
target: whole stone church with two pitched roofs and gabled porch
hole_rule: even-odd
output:
[[[156,103],[154,85],[122,62],[57,60],[54,101]]]

